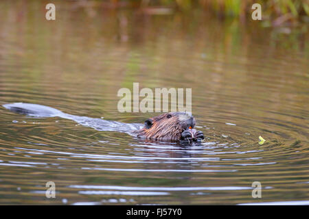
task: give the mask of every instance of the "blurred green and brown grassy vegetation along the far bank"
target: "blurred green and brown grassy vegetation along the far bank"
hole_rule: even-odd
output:
[[[82,0],[87,5],[87,0]],[[262,19],[272,21],[271,25],[309,22],[307,0],[107,0],[102,2],[108,8],[141,8],[145,13],[168,14],[173,10],[188,11],[202,8],[209,14],[225,17],[238,17],[244,21],[253,10],[253,3],[262,5]]]

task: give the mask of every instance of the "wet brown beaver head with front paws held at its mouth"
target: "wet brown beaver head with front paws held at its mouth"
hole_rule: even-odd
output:
[[[196,120],[187,112],[170,112],[145,121],[142,129],[137,131],[138,138],[152,140],[196,140],[204,139],[201,131],[193,129]]]

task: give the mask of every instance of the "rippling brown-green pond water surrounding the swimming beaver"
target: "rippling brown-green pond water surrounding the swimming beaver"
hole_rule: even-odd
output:
[[[144,141],[0,107],[0,204],[308,204],[306,26],[284,34],[198,11],[57,4],[46,21],[40,1],[1,1],[1,105],[143,123],[155,114],[119,113],[119,88],[192,88],[207,138]],[[47,181],[56,198],[45,197]]]

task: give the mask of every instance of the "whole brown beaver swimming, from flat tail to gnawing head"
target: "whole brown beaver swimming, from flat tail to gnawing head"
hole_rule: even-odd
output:
[[[101,118],[74,116],[45,105],[32,103],[8,103],[3,105],[8,110],[34,117],[60,117],[76,121],[80,125],[99,131],[119,131],[146,140],[196,141],[204,139],[202,131],[194,129],[196,120],[188,112],[170,112],[148,118],[144,125],[139,123],[120,123]]]

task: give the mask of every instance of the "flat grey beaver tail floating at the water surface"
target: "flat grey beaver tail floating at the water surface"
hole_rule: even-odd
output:
[[[52,107],[47,107],[45,105],[38,105],[32,103],[8,103],[4,104],[8,110],[16,112],[18,114],[25,114],[27,116],[36,116],[36,117],[63,117],[65,114],[60,110],[56,110]]]

